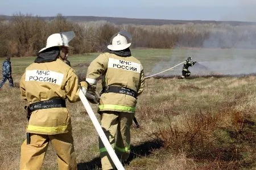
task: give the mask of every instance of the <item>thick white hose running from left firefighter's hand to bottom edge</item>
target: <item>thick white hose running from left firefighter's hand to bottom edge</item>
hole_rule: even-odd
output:
[[[117,167],[118,170],[125,170],[125,168],[123,168],[122,163],[119,161],[117,155],[115,154],[112,146],[110,145],[108,138],[106,138],[106,135],[105,135],[104,131],[102,130],[101,125],[98,122],[97,117],[95,116],[95,114],[92,110],[92,107],[90,107],[90,104],[89,104],[88,100],[86,99],[84,92],[82,92],[81,89],[79,90],[79,97],[80,97],[82,104],[84,105],[89,117],[90,117],[90,120],[92,120],[94,128],[96,129],[98,135],[100,136],[102,143],[104,144],[106,150],[108,151],[110,158],[112,159],[113,163],[115,164],[115,167]]]

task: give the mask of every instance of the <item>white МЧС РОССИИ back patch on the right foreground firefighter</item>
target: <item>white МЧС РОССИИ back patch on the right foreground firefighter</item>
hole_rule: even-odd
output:
[[[109,58],[108,67],[141,73],[141,64],[122,59]]]

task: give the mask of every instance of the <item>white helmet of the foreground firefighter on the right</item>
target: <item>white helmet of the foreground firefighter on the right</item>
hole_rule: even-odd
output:
[[[118,32],[117,36],[115,36],[112,40],[112,45],[108,45],[108,49],[118,51],[128,48],[131,43],[127,43],[127,39],[125,36],[121,35],[121,32]]]

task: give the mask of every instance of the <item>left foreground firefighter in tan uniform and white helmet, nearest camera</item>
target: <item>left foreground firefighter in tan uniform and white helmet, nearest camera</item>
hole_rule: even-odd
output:
[[[67,35],[66,35],[66,34]],[[77,169],[71,116],[65,100],[79,101],[79,82],[75,71],[63,59],[73,32],[48,37],[46,48],[20,79],[20,91],[27,100],[27,139],[21,146],[20,169],[40,169],[49,142],[57,155],[59,169]],[[70,36],[71,35],[71,36]],[[86,82],[81,87],[87,88]]]

